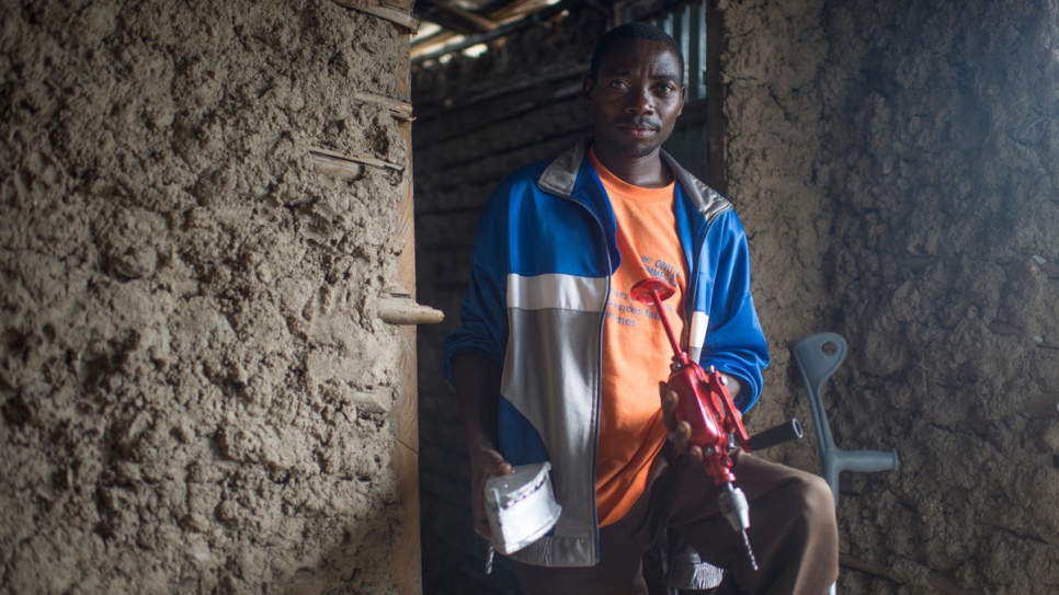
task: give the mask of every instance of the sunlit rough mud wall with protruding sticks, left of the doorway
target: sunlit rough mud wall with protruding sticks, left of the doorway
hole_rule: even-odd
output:
[[[407,147],[352,96],[406,38],[323,0],[0,22],[0,592],[394,592]]]

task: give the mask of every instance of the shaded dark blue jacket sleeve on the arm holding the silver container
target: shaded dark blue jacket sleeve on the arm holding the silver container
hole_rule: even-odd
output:
[[[482,209],[471,252],[470,279],[459,309],[459,328],[445,336],[442,373],[453,381],[453,358],[471,351],[502,366],[508,346],[508,244],[505,232],[509,184],[498,186]]]

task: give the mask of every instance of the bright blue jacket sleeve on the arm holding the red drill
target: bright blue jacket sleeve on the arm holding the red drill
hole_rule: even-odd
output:
[[[699,364],[738,377],[742,390],[736,407],[747,412],[761,397],[761,371],[768,365],[768,346],[758,320],[750,284],[747,232],[733,210],[724,213],[706,237],[709,324]]]

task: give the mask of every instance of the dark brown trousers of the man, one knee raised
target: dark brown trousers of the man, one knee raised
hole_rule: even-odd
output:
[[[669,454],[669,446],[663,453]],[[641,559],[664,530],[726,569],[724,593],[823,595],[839,575],[834,500],[818,476],[736,454],[736,485],[750,502],[751,568],[742,537],[717,508],[714,481],[687,459],[659,456],[647,491],[622,520],[600,529],[600,563],[544,568],[515,562],[523,595],[647,595]]]

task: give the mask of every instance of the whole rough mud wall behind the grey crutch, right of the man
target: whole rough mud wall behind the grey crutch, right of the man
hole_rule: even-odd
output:
[[[840,592],[1056,593],[1059,5],[722,4],[763,323],[842,333],[836,440],[901,457],[843,479]]]

